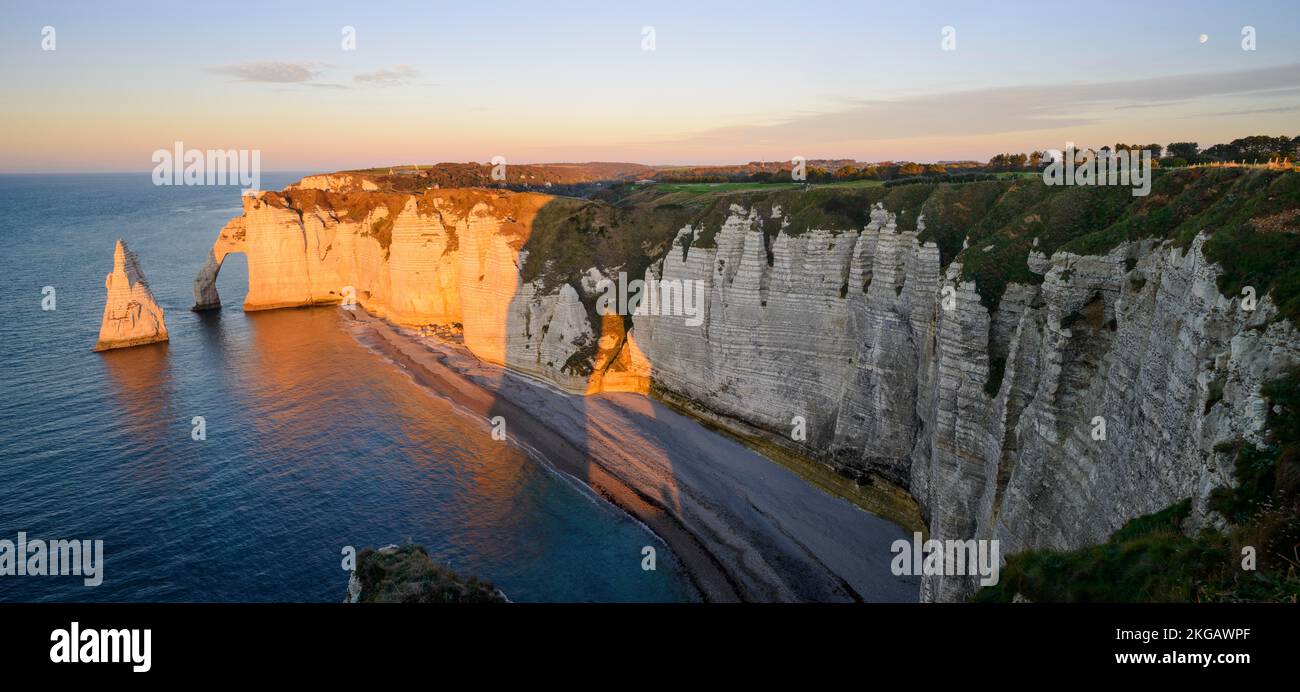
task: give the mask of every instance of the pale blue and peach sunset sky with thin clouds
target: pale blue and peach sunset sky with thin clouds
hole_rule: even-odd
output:
[[[1205,147],[1300,134],[1300,3],[0,0],[0,94],[10,173]]]

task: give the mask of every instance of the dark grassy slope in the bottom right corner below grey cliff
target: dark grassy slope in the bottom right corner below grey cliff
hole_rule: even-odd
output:
[[[1300,601],[1300,368],[1264,389],[1271,437],[1265,449],[1238,442],[1236,484],[1218,488],[1210,509],[1223,531],[1182,529],[1191,499],[1126,523],[1101,545],[1011,555],[1001,580],[978,601]],[[1243,550],[1254,550],[1254,570]]]

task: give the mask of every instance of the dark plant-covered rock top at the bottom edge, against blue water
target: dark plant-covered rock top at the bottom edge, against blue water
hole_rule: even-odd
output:
[[[462,578],[429,558],[424,546],[369,548],[356,555],[347,601],[361,604],[506,604],[500,589]]]

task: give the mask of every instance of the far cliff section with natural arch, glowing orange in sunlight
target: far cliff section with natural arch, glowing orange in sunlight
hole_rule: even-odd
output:
[[[541,281],[521,278],[534,220],[555,198],[486,190],[298,193],[244,198],[243,215],[221,229],[195,280],[195,310],[220,307],[217,272],[228,254],[243,252],[244,310],[351,297],[398,324],[462,332],[478,358],[569,392],[647,390],[647,364],[623,320],[593,328],[572,285],[545,291]],[[601,366],[594,373],[593,363]]]

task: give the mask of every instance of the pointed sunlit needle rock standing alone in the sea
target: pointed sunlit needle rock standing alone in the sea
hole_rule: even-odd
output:
[[[108,298],[94,350],[126,349],[168,339],[162,308],[153,300],[135,254],[122,241],[117,241],[113,250],[113,271],[104,277],[104,287]]]

